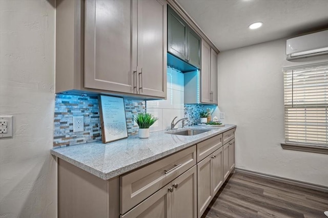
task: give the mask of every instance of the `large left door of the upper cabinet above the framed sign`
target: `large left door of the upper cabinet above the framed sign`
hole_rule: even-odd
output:
[[[86,1],[85,87],[133,93],[132,1]],[[136,38],[136,37],[135,37]]]

